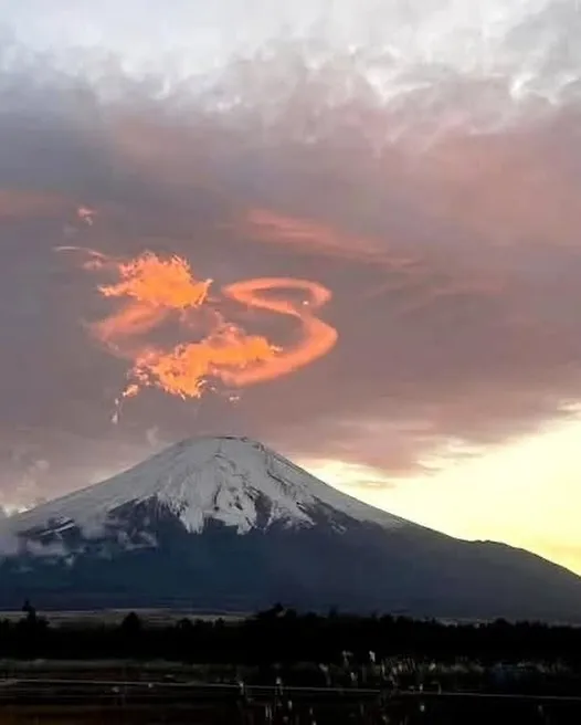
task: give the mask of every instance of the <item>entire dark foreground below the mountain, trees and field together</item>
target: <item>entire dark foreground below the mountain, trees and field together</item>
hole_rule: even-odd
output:
[[[574,629],[137,613],[4,612],[0,725],[581,723]]]

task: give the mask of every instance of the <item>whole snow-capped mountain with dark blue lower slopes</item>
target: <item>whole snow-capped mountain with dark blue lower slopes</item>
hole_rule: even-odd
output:
[[[258,442],[183,441],[0,522],[0,607],[250,611],[275,601],[581,621],[581,578],[337,492]]]

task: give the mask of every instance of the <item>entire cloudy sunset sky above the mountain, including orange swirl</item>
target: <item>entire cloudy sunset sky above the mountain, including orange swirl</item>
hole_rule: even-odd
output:
[[[578,0],[44,4],[0,0],[0,505],[245,434],[581,574]]]

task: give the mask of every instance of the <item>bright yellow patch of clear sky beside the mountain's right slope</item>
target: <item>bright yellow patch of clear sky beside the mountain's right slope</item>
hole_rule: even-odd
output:
[[[581,575],[581,421],[394,479],[338,460],[306,470],[366,503],[463,539],[528,549]]]

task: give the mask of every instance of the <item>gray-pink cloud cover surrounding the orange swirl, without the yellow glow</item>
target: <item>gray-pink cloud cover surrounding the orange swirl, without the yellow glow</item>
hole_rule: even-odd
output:
[[[573,2],[537,14],[503,4],[505,24],[488,35],[496,54],[484,4],[464,17],[434,2],[405,20],[394,3],[400,35],[415,31],[405,55],[385,50],[389,38],[346,52],[347,2],[326,35],[310,20],[308,39],[276,35],[275,13],[249,22],[242,42],[224,30],[239,12],[224,0],[208,19],[222,33],[204,36],[211,52],[188,55],[176,40],[179,77],[176,57],[146,63],[160,11],[127,3],[142,6],[131,29],[112,24],[107,3],[74,4],[93,23],[76,50],[59,34],[72,4],[57,3],[68,14],[42,30],[29,0],[7,15],[0,51],[4,503],[207,432],[402,475],[451,439],[500,442],[579,398],[581,63],[572,45],[559,52],[574,35]],[[315,17],[299,10],[295,31]],[[177,12],[184,22],[201,11]],[[83,204],[96,210],[92,227]],[[320,315],[338,345],[235,404],[146,391],[112,425],[126,364],[87,334],[109,307],[98,280],[54,252],[62,244],[181,254],[219,286],[317,281],[334,293]]]

